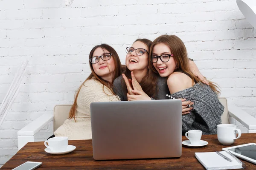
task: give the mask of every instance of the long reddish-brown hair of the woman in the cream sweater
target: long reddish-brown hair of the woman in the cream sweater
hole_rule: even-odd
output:
[[[102,83],[103,85],[103,91],[104,91],[104,86],[107,86],[111,92],[114,94],[113,92],[113,82],[114,82],[114,79],[116,79],[117,77],[120,76],[120,74],[122,73],[122,68],[121,68],[121,62],[120,62],[120,59],[119,59],[119,56],[118,54],[116,53],[115,49],[112,48],[110,45],[108,44],[101,44],[101,45],[96,45],[95,47],[93,47],[93,49],[90,51],[90,54],[89,54],[89,59],[93,57],[93,53],[94,51],[97,49],[97,48],[102,48],[103,51],[107,50],[109,51],[112,55],[111,57],[113,57],[113,60],[114,60],[114,64],[115,64],[115,69],[114,69],[114,74],[113,74],[113,77],[111,77],[111,82],[108,82],[104,79],[102,79],[101,77],[99,77],[95,71],[93,70],[93,64],[89,61],[89,64],[90,64],[90,69],[92,71],[92,73],[89,75],[89,77],[87,77],[87,79],[80,85],[80,87],[78,88],[78,90],[76,91],[76,94],[75,94],[75,99],[74,99],[74,103],[70,109],[70,113],[69,113],[69,119],[72,119],[74,118],[75,121],[76,121],[76,118],[75,118],[75,113],[76,113],[76,104],[77,104],[77,97],[79,95],[79,92],[81,90],[81,87],[84,85],[84,83],[89,80],[89,79],[92,79],[93,77],[96,78],[97,81],[99,81],[100,83]]]

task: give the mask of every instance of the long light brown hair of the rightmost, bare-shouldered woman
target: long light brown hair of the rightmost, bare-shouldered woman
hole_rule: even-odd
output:
[[[186,47],[184,45],[184,43],[182,42],[182,40],[180,40],[179,37],[175,36],[175,35],[161,35],[160,37],[157,37],[150,48],[150,52],[149,55],[152,56],[153,53],[153,48],[155,45],[163,43],[165,45],[167,45],[172,54],[173,54],[173,58],[175,60],[175,62],[177,63],[177,68],[175,69],[175,71],[177,70],[181,70],[183,72],[185,72],[186,74],[189,75],[189,77],[191,77],[192,82],[201,82],[201,80],[198,77],[195,77],[194,74],[192,74],[192,72],[189,69],[189,60],[188,60],[188,55],[187,55],[187,51],[186,51]],[[154,65],[152,62],[150,62],[149,68],[154,71],[154,73],[157,73],[157,70],[154,68]],[[218,86],[213,83],[213,82],[209,82],[209,86],[210,88],[216,93],[219,94],[220,93],[220,89],[218,88]]]

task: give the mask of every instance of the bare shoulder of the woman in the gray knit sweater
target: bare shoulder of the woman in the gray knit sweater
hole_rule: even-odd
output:
[[[171,94],[191,87],[192,79],[184,73],[172,73],[167,79],[167,85]]]

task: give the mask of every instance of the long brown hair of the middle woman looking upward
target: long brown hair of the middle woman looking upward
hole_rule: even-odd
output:
[[[137,42],[137,41],[143,42],[148,47],[148,49],[150,49],[150,46],[152,44],[151,40],[148,40],[145,38],[137,39],[134,42]],[[149,59],[149,57],[148,57],[148,59]],[[149,64],[150,63],[148,62],[148,66],[149,66]],[[127,67],[124,71],[124,74],[128,79],[131,79],[131,71]],[[128,90],[125,85],[125,81],[123,79],[122,79],[121,85],[122,85],[123,91],[126,91],[128,93]],[[142,78],[140,85],[141,85],[141,88],[143,89],[143,91],[149,97],[155,98],[156,94],[157,94],[157,74],[155,74],[152,70],[148,69],[147,74],[145,77]]]

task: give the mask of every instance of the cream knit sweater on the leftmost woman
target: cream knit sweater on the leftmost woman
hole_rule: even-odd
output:
[[[55,132],[55,136],[67,136],[68,140],[92,139],[90,104],[92,102],[120,101],[118,96],[95,78],[87,80],[77,97],[76,122],[74,118],[65,120]]]

